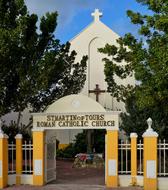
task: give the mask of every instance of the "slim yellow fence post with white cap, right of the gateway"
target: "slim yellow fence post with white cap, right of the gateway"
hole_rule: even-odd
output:
[[[131,185],[137,184],[137,134],[131,133]]]

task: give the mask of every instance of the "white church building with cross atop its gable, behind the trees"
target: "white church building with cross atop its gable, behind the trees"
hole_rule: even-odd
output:
[[[75,50],[77,52],[76,61],[80,61],[83,55],[88,56],[86,81],[80,94],[99,102],[106,110],[124,112],[124,103],[117,102],[117,100],[107,92],[107,83],[105,82],[104,75],[104,62],[102,61],[105,55],[98,52],[98,48],[104,47],[107,43],[117,45],[116,40],[120,36],[101,22],[100,17],[102,15],[103,14],[98,9],[95,9],[91,14],[93,21],[70,40],[71,50]],[[128,77],[124,80],[116,77],[115,80],[118,84],[135,84],[134,77]],[[66,101],[66,97],[63,97],[62,101]],[[78,102],[73,101],[73,95],[72,104],[76,104],[74,106],[78,106]],[[29,118],[28,112],[25,112],[26,114],[23,114],[22,116],[23,123],[27,123]],[[6,117],[9,118],[9,115]],[[14,117],[14,115],[11,117]],[[75,139],[76,134],[79,132],[81,132],[81,130],[56,130],[55,136],[60,142],[60,148],[63,148],[72,142]]]

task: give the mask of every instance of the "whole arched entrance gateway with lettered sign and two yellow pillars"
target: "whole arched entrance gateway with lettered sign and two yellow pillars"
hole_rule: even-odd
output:
[[[94,182],[95,184],[106,184],[109,187],[117,186],[118,114],[119,112],[107,112],[98,102],[83,95],[61,98],[49,106],[46,112],[34,113],[33,184],[44,185],[51,181],[72,184],[76,181],[79,184]],[[74,164],[72,160],[56,159],[56,131],[79,129],[82,131],[106,130],[105,153],[102,156],[99,155],[102,158],[105,157],[104,167],[101,169],[72,167]],[[95,154],[77,152],[75,156],[75,159],[77,158],[79,161],[82,159],[86,161],[87,165],[91,159],[93,161],[93,156],[98,155],[96,152]],[[91,176],[91,171],[93,171],[93,176]],[[98,179],[100,181],[97,183]]]

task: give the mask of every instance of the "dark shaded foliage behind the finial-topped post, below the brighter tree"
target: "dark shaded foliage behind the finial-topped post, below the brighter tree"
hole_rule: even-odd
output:
[[[159,105],[153,107],[140,108],[137,105],[135,95],[129,96],[126,101],[126,112],[121,113],[121,128],[126,132],[127,136],[132,132],[136,132],[139,138],[142,138],[142,134],[148,128],[147,119],[153,118],[153,125],[155,131],[158,132],[161,138],[167,139],[168,132],[167,117],[168,113],[160,109]]]

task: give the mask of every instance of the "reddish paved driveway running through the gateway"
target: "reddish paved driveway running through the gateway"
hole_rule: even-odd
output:
[[[106,188],[103,168],[73,168],[72,162],[57,161],[57,180],[43,187],[11,186],[5,190],[142,190],[140,187]]]

